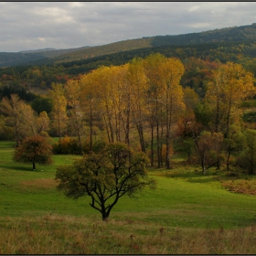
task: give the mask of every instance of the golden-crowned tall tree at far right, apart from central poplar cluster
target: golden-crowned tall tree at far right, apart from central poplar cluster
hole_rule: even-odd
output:
[[[214,131],[227,137],[230,125],[239,122],[241,101],[255,93],[253,75],[240,64],[227,62],[214,71],[206,94],[214,112]]]

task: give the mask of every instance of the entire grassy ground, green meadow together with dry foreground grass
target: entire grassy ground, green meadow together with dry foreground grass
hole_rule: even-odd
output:
[[[100,212],[90,207],[89,197],[73,200],[56,189],[56,167],[69,165],[80,156],[54,155],[53,165],[37,165],[33,171],[32,165],[13,162],[13,153],[13,142],[0,142],[0,231],[6,234],[0,239],[0,253],[256,252],[256,245],[251,247],[255,235],[250,236],[251,243],[244,241],[242,251],[233,244],[242,232],[244,237],[246,232],[255,233],[256,197],[225,189],[221,178],[229,177],[221,171],[211,169],[203,176],[197,166],[178,161],[171,170],[150,169],[156,189],[122,197],[108,222],[102,222]],[[50,240],[46,236],[53,229],[55,237]],[[210,251],[204,244],[219,238],[219,232],[226,239],[216,239]]]

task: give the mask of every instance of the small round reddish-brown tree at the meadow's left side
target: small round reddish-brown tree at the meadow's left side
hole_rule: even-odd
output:
[[[32,163],[33,170],[36,170],[36,163],[50,165],[52,147],[48,139],[39,135],[27,137],[16,147],[14,161],[19,163]]]

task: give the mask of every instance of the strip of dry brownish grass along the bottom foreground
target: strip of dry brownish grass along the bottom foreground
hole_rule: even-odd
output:
[[[1,254],[253,254],[256,226],[181,229],[48,215],[1,219]],[[142,229],[147,229],[146,233]]]

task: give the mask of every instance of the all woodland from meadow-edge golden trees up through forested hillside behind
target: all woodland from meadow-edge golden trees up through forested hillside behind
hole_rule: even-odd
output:
[[[256,174],[254,37],[214,42],[217,32],[223,39],[220,30],[180,37],[190,45],[155,37],[155,47],[2,68],[0,139],[58,136],[56,154],[80,155],[123,142],[156,167],[171,168],[179,152],[204,174]]]

